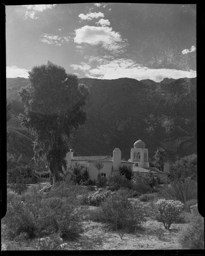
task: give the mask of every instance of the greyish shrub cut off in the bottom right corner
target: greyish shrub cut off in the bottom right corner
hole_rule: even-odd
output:
[[[196,209],[192,210],[190,222],[179,231],[178,241],[186,249],[204,249],[204,218]]]

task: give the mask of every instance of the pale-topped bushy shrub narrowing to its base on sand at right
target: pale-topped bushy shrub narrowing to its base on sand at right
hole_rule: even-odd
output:
[[[163,222],[164,227],[169,229],[183,207],[184,204],[180,201],[159,199],[155,203],[155,214],[156,217]]]

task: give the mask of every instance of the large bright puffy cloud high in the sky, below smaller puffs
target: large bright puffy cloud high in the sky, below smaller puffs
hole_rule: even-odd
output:
[[[74,41],[77,44],[86,43],[89,45],[101,45],[104,49],[113,52],[122,52],[127,46],[118,32],[112,31],[109,27],[84,26],[76,29]]]

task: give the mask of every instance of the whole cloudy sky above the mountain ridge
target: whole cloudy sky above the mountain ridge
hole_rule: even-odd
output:
[[[196,5],[6,6],[7,77],[48,60],[79,78],[196,77]]]

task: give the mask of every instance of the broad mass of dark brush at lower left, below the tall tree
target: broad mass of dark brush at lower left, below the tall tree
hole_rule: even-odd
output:
[[[15,194],[10,195],[4,218],[10,237],[19,236],[22,232],[27,233],[28,238],[42,237],[53,232],[59,232],[65,240],[79,236],[83,231],[83,216],[76,200],[76,186],[73,190],[70,188],[70,196],[67,196],[68,191],[59,191],[57,195],[56,189],[47,193],[48,197],[51,193],[51,198],[43,198],[42,193],[34,187],[19,200],[14,200]]]

